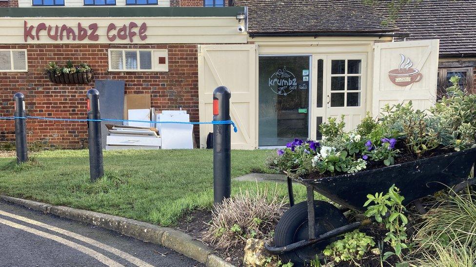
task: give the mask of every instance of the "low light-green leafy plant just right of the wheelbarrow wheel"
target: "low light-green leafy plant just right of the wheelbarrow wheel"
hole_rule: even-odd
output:
[[[328,245],[322,252],[328,257],[333,257],[338,263],[360,260],[373,246],[375,246],[375,242],[371,236],[354,230],[344,234],[343,239]]]

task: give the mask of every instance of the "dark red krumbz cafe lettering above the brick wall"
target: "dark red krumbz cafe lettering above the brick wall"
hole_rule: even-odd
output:
[[[45,23],[38,23],[37,25],[28,25],[28,21],[24,21],[23,25],[23,38],[25,43],[29,40],[40,41],[40,38],[47,37],[54,41],[73,40],[82,41],[88,39],[90,41],[98,41],[99,35],[106,36],[111,42],[115,40],[126,40],[129,42],[134,40],[147,39],[147,24],[143,22],[138,25],[136,22],[129,22],[129,24],[116,25],[109,23],[105,33],[98,33],[98,23],[91,23],[89,25],[81,25],[78,22],[77,26],[70,27],[63,25],[46,25]],[[46,32],[47,36],[40,36],[40,33]]]

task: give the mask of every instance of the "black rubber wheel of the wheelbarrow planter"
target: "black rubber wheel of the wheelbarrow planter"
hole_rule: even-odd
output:
[[[347,224],[347,218],[336,206],[321,200],[314,201],[316,217],[316,236]],[[304,266],[316,258],[325,247],[336,241],[334,237],[313,246],[296,249],[279,255],[283,263],[292,262],[294,266]],[[294,205],[286,211],[278,222],[275,230],[276,247],[284,247],[301,240],[309,240],[307,202]]]

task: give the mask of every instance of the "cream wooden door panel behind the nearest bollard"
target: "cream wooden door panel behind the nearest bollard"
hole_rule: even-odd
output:
[[[213,90],[226,86],[231,91],[230,116],[238,126],[232,132],[233,149],[254,149],[256,143],[255,45],[198,46],[198,98],[201,122],[213,119]],[[200,146],[206,146],[212,125],[200,125]]]

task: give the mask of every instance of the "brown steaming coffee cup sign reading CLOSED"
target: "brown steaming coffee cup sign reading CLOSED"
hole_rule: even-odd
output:
[[[400,54],[401,61],[398,69],[388,72],[388,77],[397,86],[408,86],[421,81],[423,74],[418,69],[412,68],[413,62],[410,58]]]

